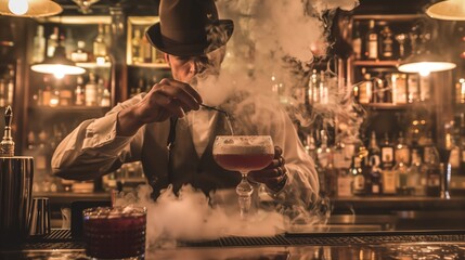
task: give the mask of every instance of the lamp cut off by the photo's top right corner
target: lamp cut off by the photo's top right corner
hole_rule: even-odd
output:
[[[431,18],[448,21],[465,21],[465,1],[447,0],[437,2],[426,10]]]

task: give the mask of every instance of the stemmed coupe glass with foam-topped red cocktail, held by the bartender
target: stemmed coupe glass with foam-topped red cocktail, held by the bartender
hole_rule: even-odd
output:
[[[254,187],[247,181],[250,171],[261,170],[274,157],[270,135],[218,135],[214,143],[214,158],[225,170],[238,171],[242,180],[236,186],[241,218],[247,219]]]

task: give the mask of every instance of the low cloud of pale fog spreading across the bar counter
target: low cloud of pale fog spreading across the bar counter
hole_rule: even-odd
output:
[[[241,219],[236,194],[218,193],[211,199],[190,185],[178,195],[172,187],[163,191],[154,203],[148,185],[139,186],[116,199],[116,206],[135,205],[147,209],[146,239],[150,247],[171,248],[179,242],[216,239],[230,235],[272,236],[284,232],[286,221],[275,211],[257,210],[248,222]],[[122,194],[121,194],[122,195]],[[215,198],[221,203],[214,203]],[[228,202],[224,203],[223,200]]]

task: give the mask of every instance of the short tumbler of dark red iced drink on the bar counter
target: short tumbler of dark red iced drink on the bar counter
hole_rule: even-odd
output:
[[[101,207],[83,211],[86,253],[99,259],[143,259],[145,208]]]

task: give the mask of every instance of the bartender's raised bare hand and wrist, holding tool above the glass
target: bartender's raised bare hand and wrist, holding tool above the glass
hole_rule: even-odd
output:
[[[164,78],[132,107],[118,114],[118,134],[131,135],[145,123],[184,117],[190,110],[197,110],[202,96],[190,84]]]

